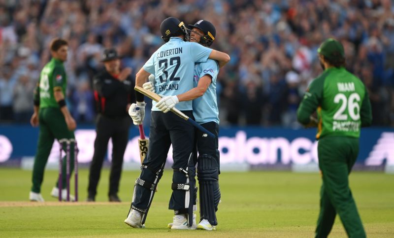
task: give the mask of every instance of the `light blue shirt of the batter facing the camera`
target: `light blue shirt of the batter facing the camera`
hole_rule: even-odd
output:
[[[208,59],[203,63],[196,63],[194,69],[194,86],[205,75],[210,75],[212,82],[201,96],[193,100],[193,116],[197,123],[216,122],[219,124],[219,110],[216,100],[216,79],[219,73],[219,65],[215,60]]]

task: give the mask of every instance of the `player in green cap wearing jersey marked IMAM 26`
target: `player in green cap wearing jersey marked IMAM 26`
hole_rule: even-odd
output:
[[[320,214],[315,237],[327,237],[338,213],[349,237],[365,231],[349,188],[348,176],[359,153],[361,127],[372,122],[364,84],[345,68],[340,42],[328,39],[318,49],[325,69],[310,84],[297,110],[298,121],[317,126],[319,168],[322,172]],[[312,114],[317,111],[317,118]]]

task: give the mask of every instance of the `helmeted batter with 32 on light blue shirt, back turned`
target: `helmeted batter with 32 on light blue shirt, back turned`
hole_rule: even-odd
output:
[[[142,163],[140,177],[136,180],[131,209],[125,223],[135,228],[144,226],[146,214],[156,186],[162,177],[167,153],[172,143],[174,172],[171,187],[173,192],[168,209],[174,210],[175,216],[171,229],[196,229],[193,214],[195,130],[192,125],[175,114],[162,112],[161,106],[157,107],[157,105],[165,105],[168,110],[177,105],[179,110],[194,118],[192,101],[179,102],[176,95],[194,87],[195,62],[205,62],[208,58],[212,58],[218,60],[219,65],[223,66],[230,61],[230,56],[197,43],[185,42],[189,36],[187,28],[176,18],[165,19],[160,30],[166,43],[152,54],[137,73],[135,85],[142,87],[148,76],[153,74],[157,82],[155,92],[164,97],[152,106],[148,155]],[[141,124],[144,117],[143,100],[143,94],[136,92],[137,103],[131,105],[129,109],[135,125]]]

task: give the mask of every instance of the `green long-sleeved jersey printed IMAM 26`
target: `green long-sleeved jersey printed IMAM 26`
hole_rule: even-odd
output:
[[[327,135],[358,138],[361,126],[369,126],[372,121],[364,84],[344,67],[328,68],[312,81],[298,107],[298,121],[308,124],[316,110],[317,139]]]

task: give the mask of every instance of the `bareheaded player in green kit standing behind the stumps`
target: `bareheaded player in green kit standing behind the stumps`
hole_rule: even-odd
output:
[[[33,127],[39,125],[37,152],[33,165],[33,186],[30,200],[43,202],[41,184],[44,169],[55,139],[74,139],[76,123],[66,107],[66,71],[63,62],[67,59],[67,42],[54,39],[51,42],[52,59],[42,69],[34,92],[34,113],[30,120]],[[66,151],[66,148],[63,148]],[[74,144],[70,145],[70,169],[74,165]],[[63,186],[66,185],[66,159],[63,159]],[[58,185],[51,195],[59,196]],[[66,189],[62,189],[62,198],[66,198]],[[71,197],[72,199],[72,197]]]

